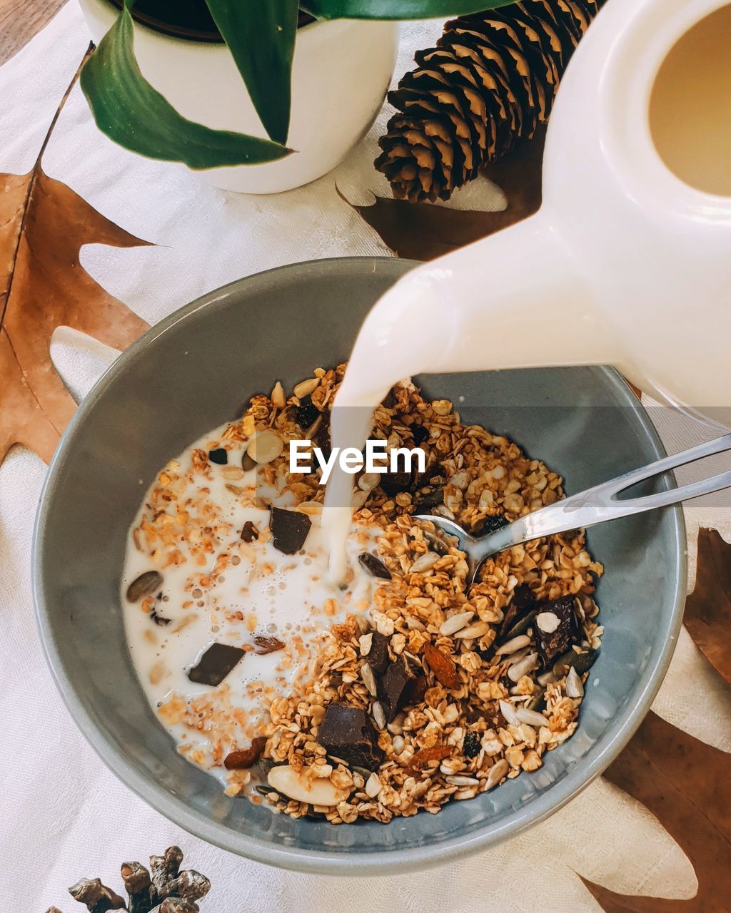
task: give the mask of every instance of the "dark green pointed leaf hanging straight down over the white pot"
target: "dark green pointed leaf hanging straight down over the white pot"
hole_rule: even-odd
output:
[[[298,0],[206,0],[267,133],[287,142]]]

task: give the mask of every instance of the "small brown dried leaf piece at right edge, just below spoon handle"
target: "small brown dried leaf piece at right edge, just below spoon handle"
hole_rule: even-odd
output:
[[[695,589],[683,621],[708,662],[731,684],[731,545],[717,530],[698,530]]]

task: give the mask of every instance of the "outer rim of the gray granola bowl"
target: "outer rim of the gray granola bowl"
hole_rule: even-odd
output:
[[[338,269],[343,267],[363,267],[369,272],[375,268],[382,268],[387,273],[392,272],[394,278],[397,278],[403,274],[405,267],[408,268],[412,265],[416,266],[417,264],[415,261],[395,257],[331,257],[307,260],[301,263],[263,270],[248,277],[236,279],[220,289],[209,291],[175,310],[164,320],[155,323],[138,340],[134,341],[127,350],[122,352],[101,375],[90,390],[90,393],[83,398],[64,435],[61,437],[56,453],[48,467],[48,473],[38,501],[32,546],[32,587],[37,626],[48,667],[58,692],[69,709],[71,718],[107,768],[132,792],[143,799],[145,803],[152,806],[156,812],[163,814],[168,820],[178,824],[188,833],[207,841],[209,844],[270,866],[280,866],[294,871],[321,875],[397,875],[430,866],[439,866],[442,863],[460,859],[480,850],[486,850],[508,837],[522,833],[526,828],[534,824],[545,821],[547,817],[557,812],[573,799],[578,792],[581,792],[598,777],[609,766],[611,761],[614,761],[620,754],[620,751],[639,728],[642,719],[644,719],[651,707],[653,698],[662,685],[662,679],[670,665],[680,627],[683,623],[683,606],[687,584],[687,540],[683,509],[680,505],[675,505],[668,509],[673,515],[675,546],[674,567],[671,569],[675,576],[675,589],[669,630],[664,643],[657,650],[654,660],[651,658],[650,663],[642,673],[634,703],[631,706],[628,704],[622,709],[619,716],[615,718],[613,731],[608,732],[598,740],[596,743],[598,749],[594,752],[592,760],[586,765],[580,766],[576,771],[570,771],[559,782],[556,782],[543,794],[535,797],[530,803],[505,815],[499,823],[492,826],[486,825],[481,831],[472,834],[450,836],[439,844],[432,846],[357,854],[347,852],[335,854],[327,850],[309,850],[275,845],[258,837],[237,834],[231,828],[212,822],[205,815],[192,811],[185,802],[166,792],[155,782],[148,780],[136,771],[132,763],[127,761],[111,742],[107,741],[101,729],[97,728],[94,719],[83,707],[66,675],[57,639],[51,628],[50,614],[44,593],[44,530],[47,526],[49,503],[56,487],[59,467],[69,459],[69,452],[75,445],[77,432],[88,413],[104,396],[111,384],[115,383],[117,374],[129,362],[134,361],[149,346],[153,345],[165,332],[171,330],[181,320],[187,320],[196,314],[197,311],[205,309],[217,301],[226,299],[231,294],[237,294],[241,289],[245,289],[246,284],[252,279],[261,280],[273,273],[286,274],[287,272],[310,273],[316,277],[322,276],[323,272],[336,274]],[[649,415],[620,373],[609,366],[600,365],[595,367],[597,370],[606,373],[612,383],[616,385],[618,403],[621,403],[621,400],[624,399],[625,404],[632,408],[635,415],[637,415],[642,430],[648,436],[651,445],[657,452],[657,457],[664,456],[665,450],[662,446],[662,441],[654,425],[652,425]],[[672,478],[672,474],[670,477]],[[489,829],[487,829],[488,827]]]

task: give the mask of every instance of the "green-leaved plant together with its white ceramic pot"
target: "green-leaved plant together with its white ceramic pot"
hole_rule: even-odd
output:
[[[503,2],[80,0],[99,42],[81,89],[100,129],[132,152],[275,193],[330,171],[368,130],[398,19]]]

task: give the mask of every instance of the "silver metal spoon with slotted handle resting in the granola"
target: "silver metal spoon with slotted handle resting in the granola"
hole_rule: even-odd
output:
[[[609,479],[587,488],[570,498],[556,501],[545,508],[534,510],[521,519],[508,523],[500,530],[490,532],[485,536],[472,536],[463,530],[459,523],[440,517],[438,514],[415,514],[416,519],[430,520],[436,527],[450,536],[456,537],[461,551],[467,553],[470,565],[468,585],[477,573],[482,561],[499,551],[520,545],[522,542],[540,539],[543,536],[552,536],[557,532],[567,532],[580,527],[596,526],[608,519],[629,517],[630,514],[641,513],[644,510],[668,507],[690,498],[708,495],[713,491],[731,488],[731,470],[722,472],[718,476],[706,478],[700,482],[684,485],[682,488],[670,488],[659,491],[654,495],[645,495],[641,498],[625,498],[620,500],[617,495],[630,485],[635,485],[646,478],[652,478],[669,469],[686,466],[705,456],[724,453],[731,450],[731,434],[716,437],[706,444],[699,444],[689,450],[673,456],[649,463],[647,466],[633,469],[624,476]]]

